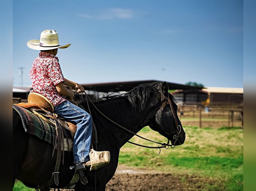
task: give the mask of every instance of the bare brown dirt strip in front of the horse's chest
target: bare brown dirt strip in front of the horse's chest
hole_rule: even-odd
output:
[[[106,185],[106,191],[199,191],[208,190],[209,186],[219,184],[217,179],[199,176],[178,176],[156,170],[137,169],[119,164],[115,175]],[[218,188],[223,185],[218,185]],[[73,191],[60,189],[61,191]],[[223,187],[223,189],[225,188]],[[53,189],[52,189],[53,191]]]

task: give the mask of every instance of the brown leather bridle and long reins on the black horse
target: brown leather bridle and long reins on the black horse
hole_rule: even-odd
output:
[[[125,127],[119,125],[118,123],[116,123],[115,121],[111,120],[109,117],[107,117],[106,115],[104,115],[104,114],[94,105],[94,103],[92,102],[92,100],[90,99],[90,97],[86,94],[86,92],[84,92],[84,93],[85,93],[85,95],[86,95],[86,102],[87,102],[87,106],[88,106],[88,108],[89,108],[90,115],[91,115],[91,111],[90,111],[88,99],[90,100],[90,102],[92,103],[92,105],[95,107],[95,109],[96,109],[103,117],[105,117],[106,119],[108,119],[110,122],[114,123],[116,126],[118,126],[118,127],[122,128],[122,129],[126,130],[127,132],[129,132],[129,133],[131,133],[131,134],[133,134],[133,135],[135,135],[135,136],[137,136],[137,137],[140,137],[140,138],[142,138],[142,139],[144,139],[144,140],[147,140],[147,141],[150,141],[150,142],[154,142],[154,143],[160,144],[160,145],[162,145],[162,146],[157,145],[156,147],[151,147],[151,146],[145,146],[145,145],[137,144],[137,143],[134,143],[134,142],[131,142],[131,141],[127,141],[127,142],[129,142],[129,143],[131,143],[131,144],[134,144],[134,145],[137,145],[137,146],[146,147],[146,148],[158,148],[158,149],[159,149],[158,155],[159,155],[160,152],[161,152],[161,148],[166,148],[166,149],[168,149],[169,147],[171,147],[171,148],[174,148],[174,147],[175,147],[175,143],[176,143],[177,140],[178,140],[179,133],[180,133],[180,131],[181,131],[181,127],[180,127],[180,125],[178,124],[178,120],[177,120],[177,117],[176,117],[176,115],[175,115],[174,108],[173,108],[173,105],[172,105],[172,103],[171,103],[171,100],[170,100],[170,98],[169,98],[169,94],[168,94],[168,96],[165,96],[165,99],[169,102],[169,104],[170,104],[170,106],[171,106],[171,111],[172,111],[172,114],[173,114],[173,117],[174,117],[174,120],[175,120],[175,124],[176,124],[176,127],[177,127],[177,133],[176,133],[175,135],[173,135],[173,139],[174,139],[173,144],[169,144],[169,142],[170,142],[169,140],[167,141],[167,143],[160,143],[160,142],[156,142],[156,141],[153,141],[153,140],[144,138],[144,137],[142,137],[142,136],[140,136],[140,135],[138,135],[138,134],[136,134],[136,133],[130,131],[129,129],[126,129]],[[77,95],[79,96],[79,98],[81,99],[81,101],[84,102],[84,100],[81,98],[81,96],[79,95],[79,93],[76,93],[76,95],[74,96],[73,100],[75,99],[75,97],[76,97]],[[93,123],[93,125],[94,125],[94,123]],[[95,128],[95,127],[94,127],[94,128]]]

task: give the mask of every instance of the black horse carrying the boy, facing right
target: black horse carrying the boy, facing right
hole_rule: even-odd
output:
[[[82,104],[87,110],[86,102]],[[170,140],[172,145],[181,145],[185,141],[175,99],[168,94],[165,82],[145,83],[122,95],[95,99],[89,103],[89,107],[97,128],[97,150],[110,151],[111,159],[109,164],[96,171],[84,170],[88,184],[83,185],[78,181],[76,191],[105,191],[106,184],[115,174],[120,148],[134,136],[117,124],[134,133],[149,126]],[[56,162],[56,152],[52,158],[52,150],[51,144],[25,133],[19,114],[13,110],[13,185],[17,179],[35,188],[49,180]],[[61,162],[59,166],[59,184],[56,188],[64,188],[70,183],[75,172],[70,169],[74,165],[73,160],[73,153],[65,151],[64,163]]]

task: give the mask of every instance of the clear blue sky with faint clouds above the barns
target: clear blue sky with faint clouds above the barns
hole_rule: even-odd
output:
[[[13,87],[31,85],[39,51],[58,31],[64,77],[77,83],[159,80],[243,88],[242,0],[13,0]],[[21,75],[21,68],[23,74]]]

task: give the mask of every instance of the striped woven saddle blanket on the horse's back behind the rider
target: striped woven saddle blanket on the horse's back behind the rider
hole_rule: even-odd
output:
[[[38,138],[54,144],[56,131],[55,126],[36,116],[33,112],[12,104],[12,107],[19,113],[25,132],[35,135]]]

